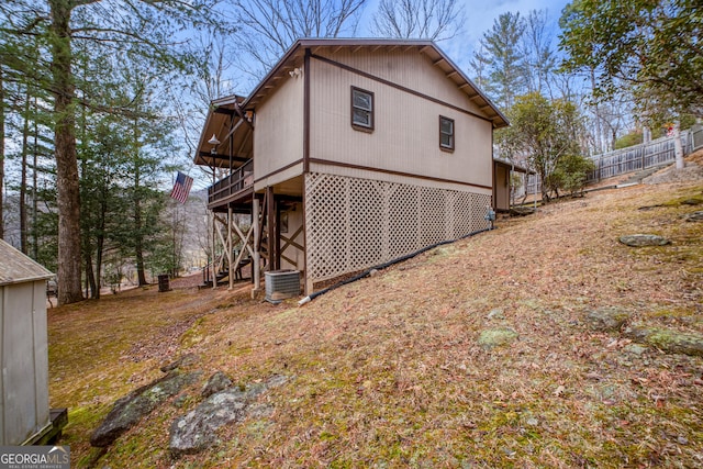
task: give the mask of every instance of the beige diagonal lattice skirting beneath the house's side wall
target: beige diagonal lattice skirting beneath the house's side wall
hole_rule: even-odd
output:
[[[308,174],[308,279],[362,270],[484,230],[490,204],[490,194]]]

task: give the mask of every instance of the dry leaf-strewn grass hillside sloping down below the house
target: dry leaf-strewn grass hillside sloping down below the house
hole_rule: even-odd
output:
[[[703,186],[594,192],[500,222],[304,308],[245,288],[136,290],[49,311],[51,395],[70,407],[75,467],[701,467],[703,359],[641,351],[594,333],[601,306],[632,322],[703,332]],[[638,210],[645,205],[661,205]],[[668,236],[633,249],[617,237]],[[488,314],[494,310],[489,319]],[[484,350],[481,331],[520,338]],[[163,362],[248,383],[294,379],[261,399],[272,415],[223,429],[220,444],[172,459],[177,399],[107,453],[90,432]]]

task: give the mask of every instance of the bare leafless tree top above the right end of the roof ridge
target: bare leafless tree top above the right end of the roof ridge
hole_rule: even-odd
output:
[[[456,0],[380,0],[371,32],[386,37],[449,40],[464,22]]]

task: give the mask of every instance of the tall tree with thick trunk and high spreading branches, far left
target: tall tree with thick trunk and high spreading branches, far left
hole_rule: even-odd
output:
[[[77,89],[91,88],[80,82],[76,67],[81,62],[77,43],[111,49],[130,48],[152,64],[157,72],[182,67],[175,48],[179,31],[210,21],[211,0],[159,2],[122,0],[107,5],[105,0],[5,0],[2,63],[23,80],[34,80],[53,97],[54,149],[57,171],[58,291],[59,304],[82,299],[80,187],[77,154]],[[115,12],[120,12],[116,14]],[[38,38],[42,53],[25,60],[16,44]],[[48,57],[45,60],[44,57]],[[97,87],[91,88],[92,91]],[[113,112],[100,92],[83,93],[86,104]]]

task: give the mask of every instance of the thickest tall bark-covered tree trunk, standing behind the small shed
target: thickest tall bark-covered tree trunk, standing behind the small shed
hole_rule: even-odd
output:
[[[58,203],[58,304],[68,304],[83,299],[80,286],[80,190],[69,24],[71,2],[49,0],[49,7]]]

